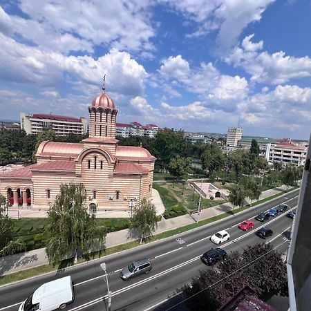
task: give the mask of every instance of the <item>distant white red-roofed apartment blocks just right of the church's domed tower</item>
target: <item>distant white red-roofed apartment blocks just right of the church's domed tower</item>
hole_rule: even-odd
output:
[[[139,122],[131,122],[130,124],[117,123],[115,133],[124,138],[129,136],[148,136],[154,138],[161,128],[156,124],[142,125]]]

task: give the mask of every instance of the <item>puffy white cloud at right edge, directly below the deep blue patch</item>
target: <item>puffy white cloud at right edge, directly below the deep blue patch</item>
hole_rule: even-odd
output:
[[[245,37],[241,47],[236,47],[225,62],[243,68],[252,75],[252,82],[283,84],[290,79],[310,77],[311,59],[305,57],[286,56],[283,51],[269,54],[260,51],[263,42],[252,43],[253,35]]]

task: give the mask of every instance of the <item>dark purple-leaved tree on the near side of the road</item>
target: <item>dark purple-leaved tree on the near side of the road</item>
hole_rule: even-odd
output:
[[[258,295],[288,296],[286,265],[270,244],[247,247],[243,254],[228,254],[225,264],[200,272],[191,285],[182,288],[182,294],[188,298],[189,310],[216,311],[245,285]]]

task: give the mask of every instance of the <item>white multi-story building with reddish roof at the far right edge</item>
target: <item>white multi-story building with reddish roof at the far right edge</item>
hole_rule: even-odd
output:
[[[280,161],[283,165],[288,163],[294,163],[296,165],[305,164],[305,158],[307,156],[307,147],[299,147],[292,142],[282,142],[274,146],[269,146],[267,149],[270,150],[269,162]]]

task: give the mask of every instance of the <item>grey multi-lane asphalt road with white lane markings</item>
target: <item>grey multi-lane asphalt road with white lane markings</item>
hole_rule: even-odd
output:
[[[279,252],[286,252],[292,220],[285,216],[287,211],[276,218],[270,218],[265,223],[254,220],[254,229],[243,232],[238,224],[245,219],[253,219],[259,212],[265,211],[286,202],[291,208],[296,207],[299,190],[276,198],[270,202],[247,209],[242,214],[219,220],[216,223],[198,229],[178,234],[171,238],[135,247],[119,254],[90,261],[57,273],[37,276],[26,281],[2,286],[0,288],[0,311],[18,310],[19,304],[32,294],[42,283],[71,275],[75,289],[75,301],[66,310],[108,310],[106,305],[107,286],[100,269],[100,263],[107,266],[109,288],[112,293],[112,310],[161,310],[161,303],[176,288],[190,282],[200,270],[211,269],[200,261],[200,255],[211,247],[215,247],[209,237],[220,229],[226,229],[230,234],[229,241],[220,247],[227,252],[243,251],[243,247],[262,242],[254,234],[261,226],[273,230],[274,234],[267,239],[278,247]],[[285,243],[284,243],[285,242]],[[140,258],[150,258],[153,270],[147,275],[138,276],[130,281],[120,279],[120,269]]]

